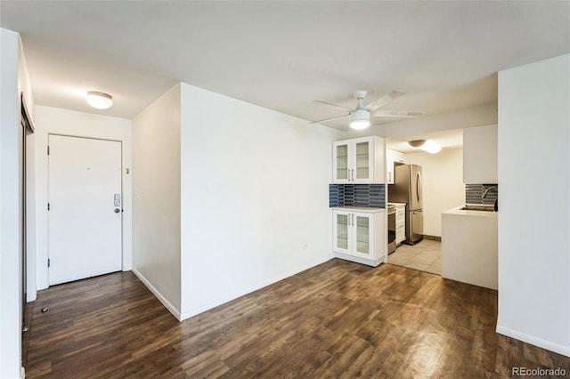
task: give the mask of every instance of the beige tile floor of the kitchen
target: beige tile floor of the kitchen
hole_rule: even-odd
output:
[[[388,263],[409,269],[442,274],[442,243],[431,239],[422,239],[416,245],[400,245],[388,255]]]

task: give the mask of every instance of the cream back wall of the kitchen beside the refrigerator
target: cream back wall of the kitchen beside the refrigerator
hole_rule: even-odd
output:
[[[424,234],[442,236],[442,213],[465,203],[462,149],[437,154],[408,153],[409,164],[421,165],[423,179]],[[388,193],[389,193],[388,186]]]

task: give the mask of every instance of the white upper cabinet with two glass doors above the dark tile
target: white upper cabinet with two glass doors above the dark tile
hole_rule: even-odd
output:
[[[382,184],[385,182],[385,141],[377,136],[337,141],[332,145],[332,182]]]

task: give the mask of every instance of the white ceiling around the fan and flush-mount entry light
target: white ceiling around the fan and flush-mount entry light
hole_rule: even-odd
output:
[[[126,118],[181,81],[307,120],[357,89],[433,115],[496,103],[497,71],[570,52],[568,1],[0,0],[0,25],[37,104]],[[89,90],[113,107],[88,108]]]

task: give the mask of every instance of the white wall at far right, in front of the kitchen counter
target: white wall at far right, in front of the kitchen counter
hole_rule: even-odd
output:
[[[570,55],[499,73],[497,332],[570,356]]]

